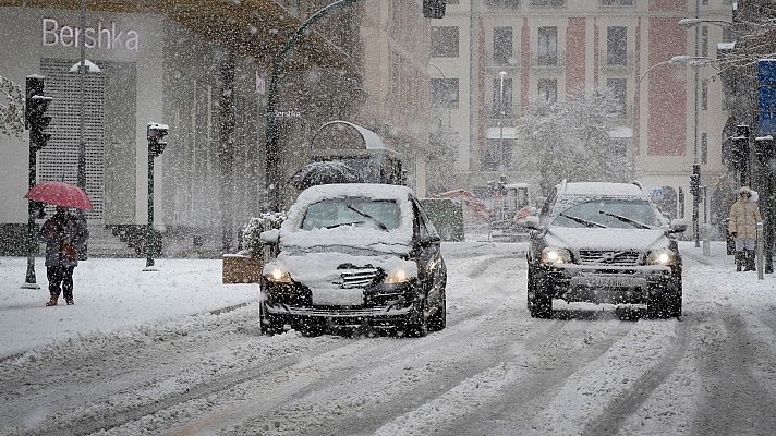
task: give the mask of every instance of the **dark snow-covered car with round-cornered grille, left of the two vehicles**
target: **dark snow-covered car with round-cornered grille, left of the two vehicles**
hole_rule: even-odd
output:
[[[303,191],[264,266],[262,330],[329,325],[424,336],[446,325],[447,269],[440,239],[412,190],[369,183]]]

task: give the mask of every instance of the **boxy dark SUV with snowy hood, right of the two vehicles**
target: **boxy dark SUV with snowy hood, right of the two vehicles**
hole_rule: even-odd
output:
[[[647,316],[681,315],[681,256],[670,223],[638,183],[566,183],[532,228],[528,308],[551,316],[553,299],[646,304]]]

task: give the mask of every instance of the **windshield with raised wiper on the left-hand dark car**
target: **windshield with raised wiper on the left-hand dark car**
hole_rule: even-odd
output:
[[[303,230],[357,226],[392,230],[399,227],[399,205],[392,199],[330,198],[307,206]]]

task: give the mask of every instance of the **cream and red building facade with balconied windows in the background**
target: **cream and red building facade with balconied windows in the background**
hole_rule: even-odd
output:
[[[451,130],[461,133],[456,183],[474,189],[501,177],[535,183],[521,158],[530,150],[517,133],[529,105],[608,87],[621,108],[620,126],[610,135],[632,157],[645,186],[662,189],[664,209],[690,219],[693,164],[702,167],[702,184],[725,174],[719,125],[727,116],[716,70],[669,61],[715,59],[724,40],[720,27],[686,29],[681,19],[730,15],[729,0],[448,4],[446,17],[433,23],[432,63],[457,87],[459,104],[450,110]]]

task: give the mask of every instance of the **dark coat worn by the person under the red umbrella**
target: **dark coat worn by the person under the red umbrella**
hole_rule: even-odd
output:
[[[88,237],[85,218],[60,213],[49,218],[40,228],[40,240],[46,242],[46,266],[77,266],[77,253],[84,250]]]

